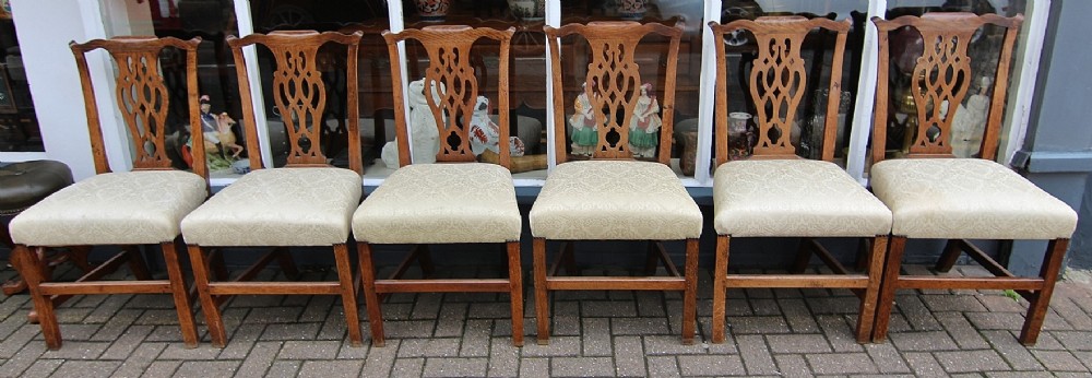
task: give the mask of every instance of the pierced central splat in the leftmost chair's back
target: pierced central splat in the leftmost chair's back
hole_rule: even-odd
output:
[[[136,144],[133,166],[170,167],[161,135],[165,132],[170,99],[159,75],[158,51],[115,54],[114,61],[118,69],[118,109]]]

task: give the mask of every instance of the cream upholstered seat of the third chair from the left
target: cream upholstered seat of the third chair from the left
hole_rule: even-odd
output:
[[[353,214],[353,236],[375,244],[520,239],[512,174],[486,163],[399,168]]]

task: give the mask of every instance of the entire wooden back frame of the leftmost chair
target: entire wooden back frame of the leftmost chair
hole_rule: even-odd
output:
[[[170,130],[168,113],[170,94],[163,75],[161,57],[167,47],[177,48],[186,56],[186,97],[189,111],[190,135],[193,139],[193,173],[207,181],[204,139],[201,134],[201,118],[198,106],[197,49],[201,38],[181,40],[178,38],[156,38],[151,36],[115,37],[93,39],[83,44],[72,42],[69,47],[75,56],[83,87],[84,110],[87,113],[87,129],[91,134],[91,150],[95,160],[95,173],[110,173],[110,163],[103,142],[98,104],[95,88],[87,69],[86,54],[104,49],[116,66],[115,97],[118,110],[132,141],[133,170],[171,169],[167,155],[166,137]]]

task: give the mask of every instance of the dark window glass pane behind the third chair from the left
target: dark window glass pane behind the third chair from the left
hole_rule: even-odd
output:
[[[509,52],[509,132],[520,139],[525,157],[512,163],[514,178],[545,178],[546,132],[546,36],[543,33],[546,0],[403,0],[406,28],[430,25],[470,25],[497,29],[515,28]],[[488,82],[491,116],[497,118],[497,43],[482,39],[475,45],[473,67],[478,80]],[[406,46],[410,81],[419,80],[428,67],[419,44]],[[384,54],[385,56],[385,54]],[[389,73],[388,73],[389,74]],[[412,117],[411,117],[412,119]],[[393,135],[388,137],[393,139]],[[480,158],[480,156],[479,156]]]

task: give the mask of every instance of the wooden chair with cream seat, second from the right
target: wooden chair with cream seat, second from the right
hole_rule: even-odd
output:
[[[713,342],[724,342],[725,291],[743,287],[851,288],[860,298],[857,342],[871,336],[881,268],[891,231],[891,212],[845,170],[834,164],[842,56],[850,22],[802,16],[739,20],[725,25],[711,22],[716,66],[716,172],[713,178],[713,227],[716,229],[716,265],[713,274]],[[758,55],[750,72],[750,97],[758,115],[758,145],[750,158],[728,158],[728,113],[725,34],[751,32]],[[802,47],[815,29],[833,32],[836,42],[830,72],[830,95],[822,138],[822,161],[804,160],[790,142],[790,130],[808,87]],[[820,58],[822,56],[820,55]],[[822,59],[812,64],[826,64]],[[739,237],[798,237],[796,264],[788,274],[728,274],[728,246]],[[818,238],[862,238],[866,269],[852,274]],[[839,275],[799,274],[811,253]],[[860,257],[858,257],[860,258]]]

